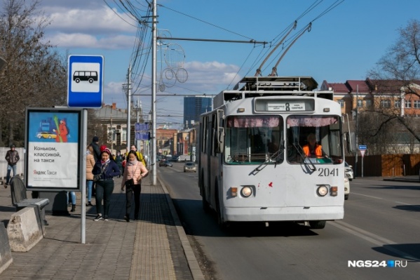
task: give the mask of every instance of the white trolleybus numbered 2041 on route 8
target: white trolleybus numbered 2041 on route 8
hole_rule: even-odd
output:
[[[203,208],[229,222],[344,218],[341,108],[311,77],[250,76],[200,116]]]

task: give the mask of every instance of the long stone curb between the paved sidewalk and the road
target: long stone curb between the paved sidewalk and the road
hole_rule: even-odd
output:
[[[203,272],[201,272],[200,266],[198,265],[198,261],[196,259],[196,255],[194,255],[194,251],[191,248],[191,244],[189,244],[187,234],[184,231],[184,227],[182,227],[181,225],[181,221],[179,220],[177,211],[175,210],[175,206],[172,202],[168,189],[166,189],[166,186],[163,184],[161,180],[159,180],[159,182],[161,183],[163,192],[165,192],[166,200],[168,201],[169,208],[170,208],[170,213],[175,222],[175,227],[177,227],[179,239],[181,240],[182,249],[184,250],[185,257],[187,258],[191,275],[193,276],[194,280],[204,280]]]

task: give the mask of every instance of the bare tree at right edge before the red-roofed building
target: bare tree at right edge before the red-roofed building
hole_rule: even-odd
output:
[[[401,106],[384,106],[384,100],[398,105],[398,102],[405,102],[412,95],[420,97],[420,22],[409,20],[407,26],[399,29],[399,33],[395,44],[388,48],[386,54],[377,62],[377,67],[368,73],[374,88],[374,100],[379,103],[366,110],[377,119],[370,119],[370,122],[366,123],[365,127],[369,129],[365,130],[364,137],[379,138],[384,136],[382,134],[385,130],[391,130],[394,134],[412,135],[410,138],[420,142],[417,129],[419,119],[408,116],[407,112],[402,114]],[[400,140],[390,138],[389,135],[386,137],[381,137],[381,140]]]

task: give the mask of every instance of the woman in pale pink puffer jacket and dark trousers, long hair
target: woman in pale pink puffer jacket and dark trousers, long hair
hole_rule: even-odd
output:
[[[135,151],[128,152],[128,161],[121,182],[121,191],[126,187],[126,215],[124,220],[130,222],[131,204],[134,194],[134,220],[139,219],[140,212],[140,192],[142,192],[142,178],[147,176],[147,168],[142,161],[137,160]]]

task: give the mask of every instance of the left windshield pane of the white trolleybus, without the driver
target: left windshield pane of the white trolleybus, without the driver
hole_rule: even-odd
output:
[[[278,164],[283,161],[281,116],[228,116],[224,160],[227,164]]]

